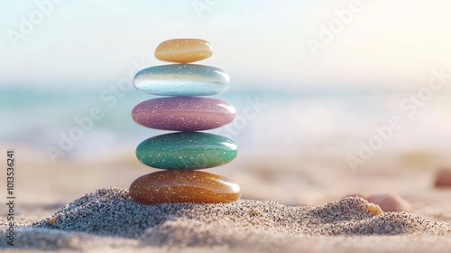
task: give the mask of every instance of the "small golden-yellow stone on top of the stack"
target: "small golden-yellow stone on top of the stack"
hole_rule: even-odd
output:
[[[200,39],[174,39],[161,42],[155,57],[161,61],[188,63],[207,59],[213,54],[210,43]]]

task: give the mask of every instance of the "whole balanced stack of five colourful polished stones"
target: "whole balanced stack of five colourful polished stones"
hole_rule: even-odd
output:
[[[207,59],[212,54],[212,47],[204,40],[161,42],[155,57],[177,64],[150,67],[134,76],[136,89],[166,97],[138,104],[132,111],[133,120],[142,126],[177,132],[153,136],[137,146],[139,161],[163,170],[145,174],[130,185],[133,201],[143,204],[221,203],[240,198],[240,187],[235,181],[220,174],[198,171],[227,164],[238,153],[232,140],[198,132],[225,126],[235,117],[232,104],[202,98],[229,88],[226,71],[187,64]]]

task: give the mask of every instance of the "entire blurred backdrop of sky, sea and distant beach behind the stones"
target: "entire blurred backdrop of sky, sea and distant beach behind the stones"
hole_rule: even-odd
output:
[[[377,175],[409,181],[406,172],[449,164],[450,12],[446,0],[8,1],[0,146],[16,151],[23,205],[128,188],[154,171],[136,145],[166,133],[133,123],[132,108],[155,98],[133,75],[167,64],[153,57],[160,42],[201,38],[215,52],[198,63],[229,73],[216,98],[237,108],[232,125],[209,132],[240,147],[211,171],[241,183],[244,198],[409,195],[399,177]],[[411,185],[429,187],[430,173],[420,175]]]

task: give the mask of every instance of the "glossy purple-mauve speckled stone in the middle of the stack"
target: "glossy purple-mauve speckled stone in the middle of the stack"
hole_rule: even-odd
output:
[[[202,131],[229,124],[235,112],[232,104],[216,98],[153,98],[134,107],[132,117],[155,129]]]

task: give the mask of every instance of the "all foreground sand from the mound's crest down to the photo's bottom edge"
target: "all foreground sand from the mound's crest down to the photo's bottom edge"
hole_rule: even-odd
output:
[[[448,252],[451,223],[408,212],[373,215],[348,197],[318,207],[275,201],[142,205],[124,189],[88,193],[16,226],[23,250],[74,252]],[[5,239],[5,219],[0,237]],[[12,251],[14,252],[14,251]]]

